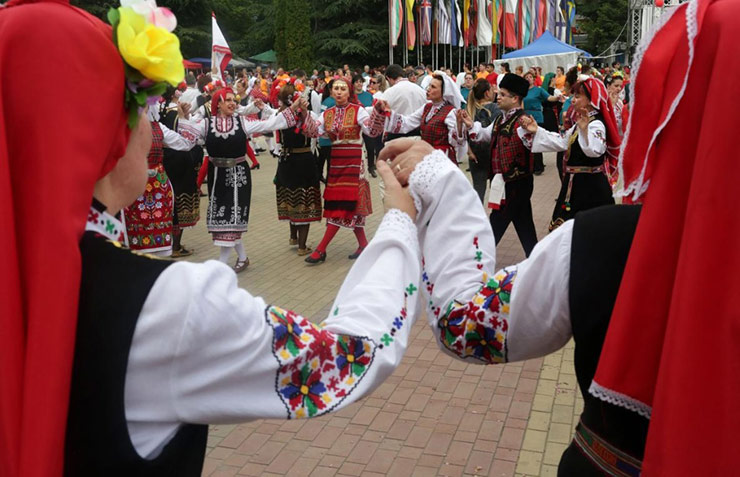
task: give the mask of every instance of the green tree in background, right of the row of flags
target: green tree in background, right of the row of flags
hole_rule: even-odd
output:
[[[583,18],[578,24],[579,30],[588,35],[586,51],[594,55],[603,52],[617,39],[620,32],[621,41],[626,41],[629,25],[627,0],[576,0],[576,12]]]

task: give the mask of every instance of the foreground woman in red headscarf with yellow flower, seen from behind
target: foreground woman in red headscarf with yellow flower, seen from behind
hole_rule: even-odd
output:
[[[153,13],[113,10],[116,43],[109,26],[58,0],[0,8],[3,476],[200,476],[207,424],[342,409],[393,373],[418,316],[416,210],[386,164],[388,212],[320,328],[238,288],[218,261],[118,245],[115,214],[147,182],[151,124],[138,111],[162,89],[146,85],[183,76],[176,37],[145,20],[173,18]],[[54,71],[79,73],[58,85],[94,89],[95,108],[62,95],[44,115],[17,114],[45,79],[12,73],[44,55]],[[142,94],[126,103],[126,88]],[[25,187],[40,158],[54,160]],[[54,231],[53,248],[39,224]]]

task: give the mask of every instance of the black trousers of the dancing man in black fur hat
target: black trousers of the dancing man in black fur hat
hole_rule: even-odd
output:
[[[532,218],[532,191],[534,190],[534,177],[531,175],[524,179],[507,182],[506,200],[499,210],[491,211],[491,228],[496,239],[496,245],[514,223],[514,229],[519,237],[519,242],[524,248],[524,254],[529,257],[532,249],[537,245],[537,231],[534,228]]]

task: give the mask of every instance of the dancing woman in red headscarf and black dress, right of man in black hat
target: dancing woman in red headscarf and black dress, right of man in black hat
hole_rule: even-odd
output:
[[[523,118],[519,129],[519,135],[531,143],[533,152],[565,151],[565,176],[550,231],[577,212],[614,203],[612,184],[616,182],[621,144],[614,108],[604,83],[596,78],[576,83],[573,93],[573,107],[579,118],[563,136],[539,127],[531,117]]]

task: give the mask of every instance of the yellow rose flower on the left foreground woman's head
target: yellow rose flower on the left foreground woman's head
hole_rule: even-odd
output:
[[[126,63],[154,82],[177,86],[185,77],[177,36],[147,23],[130,7],[118,11],[118,49]]]

